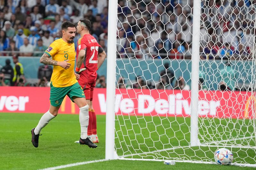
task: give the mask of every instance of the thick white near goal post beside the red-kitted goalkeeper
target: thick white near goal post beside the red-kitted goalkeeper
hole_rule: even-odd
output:
[[[105,159],[116,159],[115,153],[115,95],[116,95],[116,31],[117,0],[108,1],[108,62],[106,94],[106,152]]]

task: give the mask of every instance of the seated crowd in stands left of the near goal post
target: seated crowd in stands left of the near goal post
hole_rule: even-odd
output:
[[[107,51],[107,0],[1,0],[0,55],[41,56],[61,37],[63,21],[81,18],[92,21],[91,33]]]

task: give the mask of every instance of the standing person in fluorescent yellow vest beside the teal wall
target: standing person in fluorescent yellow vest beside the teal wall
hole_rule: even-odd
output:
[[[19,55],[13,55],[12,61],[15,64],[13,67],[13,79],[12,85],[18,85],[20,81],[20,77],[24,75],[23,73],[23,65],[19,63]]]

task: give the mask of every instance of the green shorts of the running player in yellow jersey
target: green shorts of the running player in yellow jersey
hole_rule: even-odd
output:
[[[78,82],[68,87],[53,87],[51,83],[50,87],[50,102],[54,107],[59,107],[66,95],[68,95],[72,101],[74,96],[85,98],[84,91]]]

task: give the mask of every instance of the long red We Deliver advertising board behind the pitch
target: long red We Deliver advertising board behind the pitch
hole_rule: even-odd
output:
[[[50,106],[49,87],[0,87],[0,112],[45,113]],[[181,90],[117,89],[117,115],[190,115],[190,92]],[[200,91],[198,115],[218,118],[255,118],[252,92]],[[252,107],[254,106],[254,107]],[[106,89],[95,88],[93,107],[106,114]],[[60,114],[78,114],[79,108],[66,96]]]

